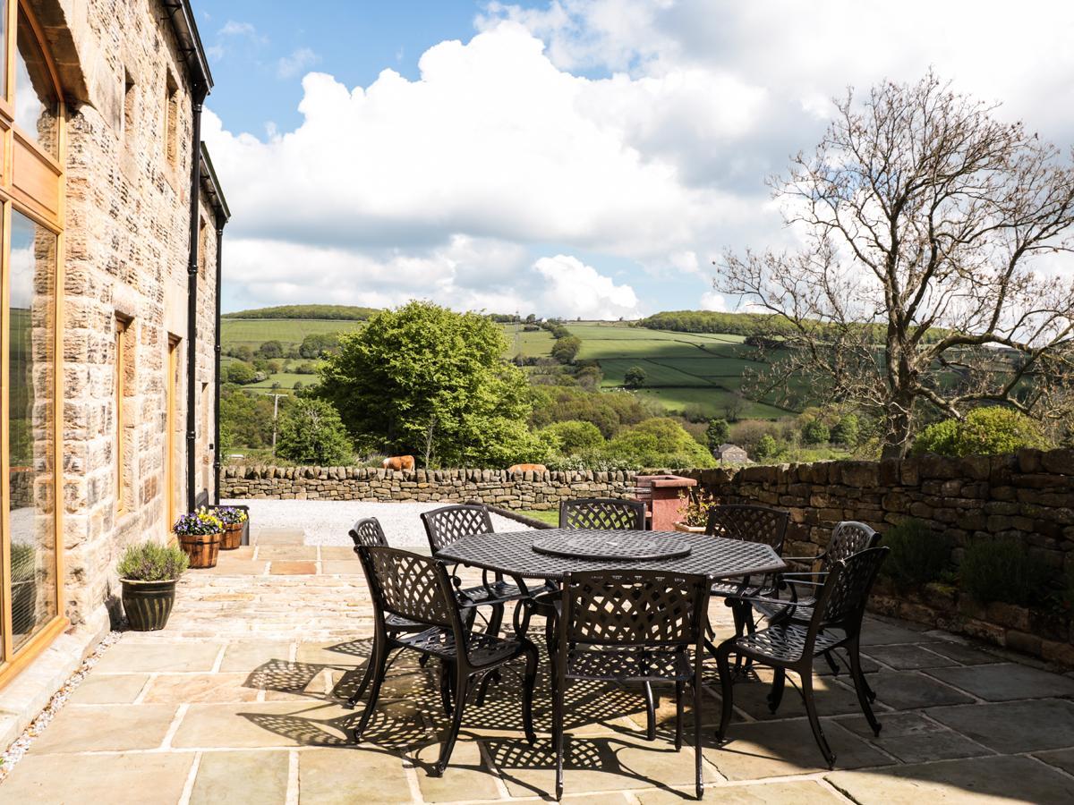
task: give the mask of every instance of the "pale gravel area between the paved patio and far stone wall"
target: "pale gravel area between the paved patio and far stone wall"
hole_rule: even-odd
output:
[[[226,500],[250,507],[253,528],[297,528],[306,533],[307,545],[350,545],[347,530],[355,519],[376,517],[388,542],[395,547],[427,545],[425,529],[418,516],[447,503],[376,503],[364,500]],[[521,531],[526,526],[497,514],[492,515],[497,531]]]

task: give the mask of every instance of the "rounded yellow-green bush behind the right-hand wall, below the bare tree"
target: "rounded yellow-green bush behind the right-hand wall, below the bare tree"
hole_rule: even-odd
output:
[[[914,441],[914,453],[1004,455],[1022,448],[1047,448],[1041,426],[1024,413],[1001,406],[975,408],[961,420],[929,425]]]

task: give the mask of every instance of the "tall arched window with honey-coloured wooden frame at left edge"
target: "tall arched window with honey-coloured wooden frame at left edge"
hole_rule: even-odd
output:
[[[33,6],[0,0],[0,685],[63,618],[64,109]]]

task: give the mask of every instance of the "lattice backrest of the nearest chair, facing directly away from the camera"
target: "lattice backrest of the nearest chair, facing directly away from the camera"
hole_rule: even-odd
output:
[[[561,594],[561,645],[697,644],[705,633],[709,587],[706,576],[693,573],[570,573]]]

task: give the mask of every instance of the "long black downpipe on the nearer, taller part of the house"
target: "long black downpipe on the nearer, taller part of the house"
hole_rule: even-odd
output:
[[[198,481],[198,236],[201,223],[201,116],[208,87],[201,80],[191,91],[190,133],[190,260],[187,263],[187,511],[194,510]]]

